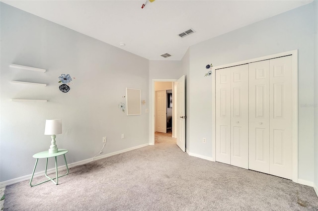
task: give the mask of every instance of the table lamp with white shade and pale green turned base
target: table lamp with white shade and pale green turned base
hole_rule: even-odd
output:
[[[51,119],[45,121],[44,135],[51,135],[52,141],[49,149],[49,154],[59,152],[55,144],[56,134],[62,134],[62,119]]]

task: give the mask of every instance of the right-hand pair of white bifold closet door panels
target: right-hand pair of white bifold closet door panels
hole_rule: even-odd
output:
[[[249,64],[249,169],[292,179],[292,56]]]

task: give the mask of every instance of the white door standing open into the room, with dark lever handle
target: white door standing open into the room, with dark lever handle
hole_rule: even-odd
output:
[[[177,80],[177,145],[185,152],[185,76]]]

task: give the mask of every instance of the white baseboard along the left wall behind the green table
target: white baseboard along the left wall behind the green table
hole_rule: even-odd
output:
[[[95,157],[95,158],[89,158],[89,159],[80,160],[78,162],[68,163],[68,167],[72,168],[72,167],[75,167],[77,165],[86,164],[86,163],[91,162],[93,160],[107,158],[107,157],[110,157],[110,156],[118,155],[118,154],[121,154],[121,153],[125,153],[125,152],[128,152],[128,151],[136,150],[138,148],[147,147],[147,146],[149,146],[148,143],[147,144],[143,144],[143,145],[139,145],[139,146],[136,146],[136,147],[131,147],[131,148],[128,148],[128,149],[125,149],[125,150],[120,150],[120,151],[117,151],[117,152],[108,153],[108,154],[103,155],[103,156],[98,156],[98,157]],[[66,169],[66,165],[62,165],[62,166],[58,167],[59,171],[60,170],[64,170],[64,169]],[[40,172],[34,173],[33,178],[38,177],[38,176],[43,176],[44,172],[45,171],[40,171]],[[55,173],[55,168],[51,168],[51,169],[47,170],[47,174],[51,174],[51,173]],[[29,175],[25,175],[25,176],[21,176],[21,177],[18,177],[18,178],[14,178],[14,179],[10,179],[10,180],[6,180],[6,181],[3,181],[3,182],[0,182],[0,188],[4,188],[7,185],[11,185],[11,184],[14,184],[14,183],[17,183],[17,182],[22,182],[22,181],[25,181],[25,180],[29,180],[31,178],[31,176],[32,176],[32,174],[29,174]]]

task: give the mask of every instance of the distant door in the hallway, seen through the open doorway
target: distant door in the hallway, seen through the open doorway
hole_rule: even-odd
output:
[[[160,133],[167,132],[167,98],[166,91],[156,92],[156,131]]]

